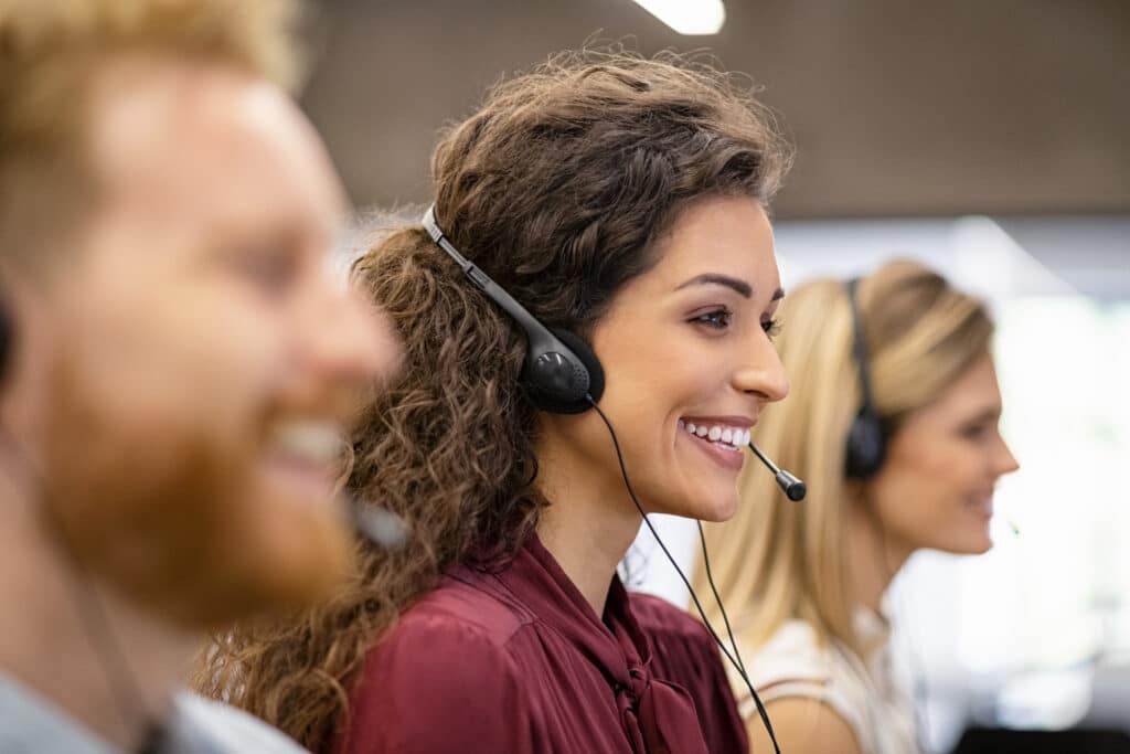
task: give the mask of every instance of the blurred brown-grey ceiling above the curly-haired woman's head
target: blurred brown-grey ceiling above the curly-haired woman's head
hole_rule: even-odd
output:
[[[798,158],[779,217],[1130,213],[1127,0],[727,0],[684,37],[629,0],[315,6],[304,106],[356,203],[425,201],[437,129],[586,40],[709,47],[764,86]]]

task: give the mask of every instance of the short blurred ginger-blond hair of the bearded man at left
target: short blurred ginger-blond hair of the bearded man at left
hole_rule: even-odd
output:
[[[94,193],[82,132],[101,67],[129,53],[297,83],[293,0],[0,0],[0,248],[26,261]]]

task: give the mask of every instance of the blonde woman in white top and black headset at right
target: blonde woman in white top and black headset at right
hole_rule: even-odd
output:
[[[907,261],[809,283],[781,315],[793,393],[755,440],[808,497],[790,503],[747,474],[734,520],[707,527],[711,567],[782,749],[905,754],[914,716],[890,677],[880,604],[914,551],[992,545],[993,485],[1017,468],[997,428],[992,324]],[[734,688],[757,751],[754,704]]]

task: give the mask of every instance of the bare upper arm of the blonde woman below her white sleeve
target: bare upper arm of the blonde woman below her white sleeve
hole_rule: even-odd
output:
[[[815,699],[786,697],[765,707],[781,751],[792,754],[860,754],[851,725],[834,709]],[[772,751],[759,716],[747,719],[750,751]]]

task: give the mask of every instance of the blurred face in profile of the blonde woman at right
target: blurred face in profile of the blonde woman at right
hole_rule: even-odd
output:
[[[977,554],[992,546],[993,487],[1018,468],[997,427],[1000,388],[985,354],[892,437],[869,499],[907,551]]]

